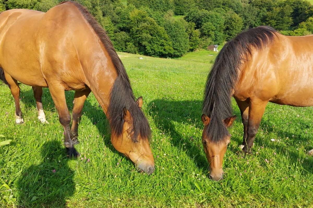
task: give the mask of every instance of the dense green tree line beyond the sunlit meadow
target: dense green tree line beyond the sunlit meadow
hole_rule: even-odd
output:
[[[46,12],[59,0],[0,0],[0,10]],[[105,28],[118,51],[182,56],[223,44],[240,31],[269,25],[285,35],[313,33],[313,6],[304,0],[77,0]]]

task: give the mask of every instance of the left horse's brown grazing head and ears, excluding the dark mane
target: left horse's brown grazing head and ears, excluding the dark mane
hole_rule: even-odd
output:
[[[142,97],[136,101],[138,108],[141,109]],[[133,138],[134,120],[128,109],[124,108],[123,112],[123,133],[119,138],[112,132],[111,142],[114,148],[123,153],[136,167],[142,171],[151,174],[154,172],[154,159],[149,147],[148,138],[141,138],[141,134],[138,134],[138,138]]]

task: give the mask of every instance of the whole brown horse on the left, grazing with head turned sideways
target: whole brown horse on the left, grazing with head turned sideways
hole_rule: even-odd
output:
[[[135,101],[109,37],[85,7],[66,1],[46,13],[26,9],[2,12],[0,67],[15,100],[17,119],[22,119],[17,81],[33,86],[39,109],[41,88],[49,87],[69,156],[79,156],[74,148],[78,123],[92,91],[109,120],[115,149],[141,170],[154,171],[148,143],[151,130],[141,111],[142,98]],[[75,90],[71,127],[64,90]]]

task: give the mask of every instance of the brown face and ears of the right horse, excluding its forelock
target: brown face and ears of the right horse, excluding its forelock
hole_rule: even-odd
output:
[[[207,156],[209,162],[209,177],[214,181],[219,181],[223,179],[223,157],[227,149],[227,145],[230,142],[230,135],[221,138],[218,142],[212,141],[211,138],[208,138],[208,126],[210,123],[210,118],[203,114],[202,122],[204,124],[204,129],[202,133],[202,144],[204,152]],[[233,121],[236,119],[236,116],[229,117],[223,120],[225,127],[229,127],[233,124]],[[214,131],[214,129],[210,129]]]

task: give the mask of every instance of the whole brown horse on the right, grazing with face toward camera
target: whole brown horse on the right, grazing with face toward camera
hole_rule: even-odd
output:
[[[270,27],[240,33],[225,44],[208,76],[203,101],[202,143],[213,180],[223,178],[230,135],[231,96],[244,125],[243,151],[251,153],[268,102],[313,105],[313,36],[284,36]]]

